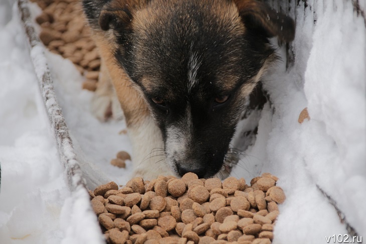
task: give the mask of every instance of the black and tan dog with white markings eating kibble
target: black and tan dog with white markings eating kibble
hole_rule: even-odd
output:
[[[278,59],[269,38],[292,41],[291,18],[259,0],[83,0],[83,8],[101,56],[95,107],[115,92],[134,176],[209,178],[237,160],[239,120]]]

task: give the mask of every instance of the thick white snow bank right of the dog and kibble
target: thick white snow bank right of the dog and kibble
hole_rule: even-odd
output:
[[[317,186],[335,200],[358,237],[366,235],[364,20],[351,1],[307,4],[295,9],[295,63],[287,71],[279,63],[265,77],[273,116],[263,110],[257,141],[234,170],[235,176],[271,172],[280,178],[287,199],[273,243],[327,243],[325,236],[348,234]],[[284,47],[280,53],[285,61]],[[300,125],[305,107],[311,119]]]

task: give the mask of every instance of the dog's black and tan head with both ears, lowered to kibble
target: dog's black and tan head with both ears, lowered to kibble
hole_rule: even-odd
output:
[[[294,22],[255,0],[111,0],[99,14],[115,58],[141,92],[179,175],[216,174],[245,99],[275,60],[268,38]]]

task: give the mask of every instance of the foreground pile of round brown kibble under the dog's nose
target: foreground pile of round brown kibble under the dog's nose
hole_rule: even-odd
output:
[[[271,243],[285,200],[277,180],[263,173],[248,186],[187,173],[136,177],[120,189],[109,182],[89,194],[107,243]]]

